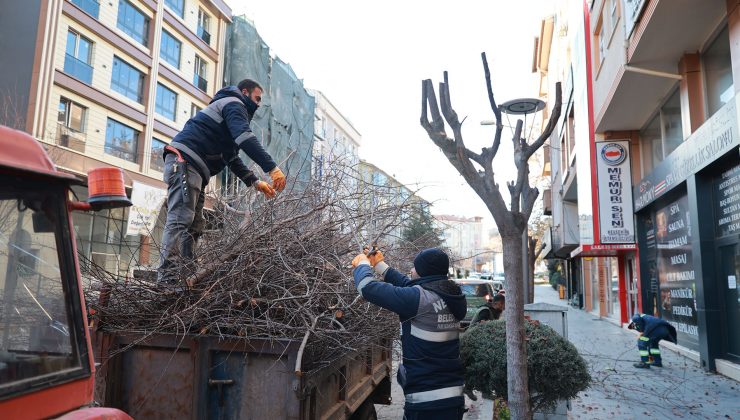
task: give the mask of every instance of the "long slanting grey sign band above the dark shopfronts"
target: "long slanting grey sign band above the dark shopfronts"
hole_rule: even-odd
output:
[[[643,209],[689,176],[740,145],[738,96],[720,108],[653,172],[634,186],[635,211]]]

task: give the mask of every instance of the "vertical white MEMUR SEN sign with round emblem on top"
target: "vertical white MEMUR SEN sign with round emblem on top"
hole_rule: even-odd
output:
[[[596,143],[596,176],[601,243],[634,242],[629,141]]]

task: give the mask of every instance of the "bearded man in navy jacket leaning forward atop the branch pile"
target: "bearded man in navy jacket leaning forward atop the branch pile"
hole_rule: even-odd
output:
[[[285,188],[285,175],[249,127],[262,102],[262,93],[262,86],[251,79],[219,90],[211,103],[190,118],[164,148],[167,221],[162,236],[159,282],[177,282],[173,269],[178,256],[185,262],[192,261],[193,247],[203,233],[205,186],[224,167],[228,166],[242,182],[268,198]],[[247,168],[239,150],[270,175],[272,185]]]

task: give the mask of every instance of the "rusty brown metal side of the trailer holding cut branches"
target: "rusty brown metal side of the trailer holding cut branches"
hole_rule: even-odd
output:
[[[346,419],[390,402],[390,345],[296,375],[293,340],[98,331],[94,343],[96,400],[136,419]]]

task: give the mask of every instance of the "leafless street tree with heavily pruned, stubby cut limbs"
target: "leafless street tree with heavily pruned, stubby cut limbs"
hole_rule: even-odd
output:
[[[534,142],[530,144],[526,138],[523,138],[522,120],[516,122],[512,142],[514,144],[513,159],[517,168],[517,175],[515,181],[507,183],[511,196],[507,205],[493,172],[493,158],[501,144],[501,133],[504,125],[501,120],[501,110],[496,105],[493,97],[491,72],[488,69],[486,54],[482,53],[481,56],[488,88],[488,99],[496,117],[496,134],[491,147],[484,147],[480,153],[475,153],[465,147],[462,136],[462,121],[459,120],[457,113],[452,108],[450,85],[446,71],[444,72],[444,82],[439,84],[439,104],[432,81],[427,79],[422,82],[421,125],[434,144],[442,150],[447,160],[486,204],[501,232],[504,248],[504,272],[507,278],[506,359],[508,403],[512,418],[529,419],[532,417],[532,412],[527,381],[527,351],[524,329],[522,235],[527,230],[532,208],[539,195],[537,188],[530,185],[529,158],[550,137],[560,117],[562,102],[560,83],[557,83],[555,87],[555,105],[547,126]],[[428,113],[431,113],[431,121],[429,121]],[[447,135],[445,121],[452,129],[453,138]]]

